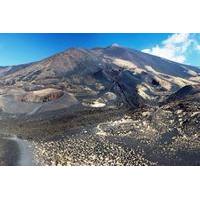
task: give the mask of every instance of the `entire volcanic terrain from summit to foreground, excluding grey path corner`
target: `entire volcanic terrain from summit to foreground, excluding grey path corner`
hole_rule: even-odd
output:
[[[1,135],[37,165],[200,164],[199,68],[109,46],[0,74]]]

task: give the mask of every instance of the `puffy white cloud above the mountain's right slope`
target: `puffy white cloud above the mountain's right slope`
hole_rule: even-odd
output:
[[[175,33],[151,49],[143,49],[145,53],[160,56],[175,62],[184,63],[185,53],[191,46],[193,39],[189,33]]]

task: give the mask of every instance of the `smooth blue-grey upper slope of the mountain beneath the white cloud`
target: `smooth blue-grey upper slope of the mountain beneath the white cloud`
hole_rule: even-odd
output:
[[[191,75],[195,76],[200,73],[200,69],[198,68],[176,63],[129,48],[111,46],[108,48],[96,49],[96,51],[112,58],[128,60],[142,69],[145,69],[146,66],[151,66],[157,72],[172,76],[189,78]]]

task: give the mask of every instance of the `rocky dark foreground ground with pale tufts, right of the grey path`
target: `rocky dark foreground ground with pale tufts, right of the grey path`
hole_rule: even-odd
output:
[[[74,124],[64,121],[60,126],[63,132],[49,131],[45,137],[37,134],[30,137],[36,163],[64,166],[200,164],[198,101],[180,100],[120,113],[99,112],[97,120],[91,112],[79,119],[79,123],[77,119],[72,120]],[[90,115],[94,121],[89,124]]]

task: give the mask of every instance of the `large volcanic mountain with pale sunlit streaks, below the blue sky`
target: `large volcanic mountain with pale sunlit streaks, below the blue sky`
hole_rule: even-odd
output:
[[[19,109],[22,111],[20,113],[57,110],[74,103],[80,109],[121,106],[138,108],[146,104],[157,104],[185,85],[198,84],[199,74],[198,68],[124,47],[90,50],[71,48],[6,72],[0,78],[0,103],[4,112],[13,110],[9,107],[16,103],[16,113]],[[63,106],[63,100],[54,106],[54,101],[58,100],[49,100],[47,97],[53,96],[50,93],[47,97],[44,95],[44,98],[51,103],[43,100],[37,103],[22,101],[30,92],[53,91],[52,88],[63,91],[73,99],[70,102],[74,103]],[[31,95],[31,98],[38,97]],[[49,107],[42,109],[44,106]]]

